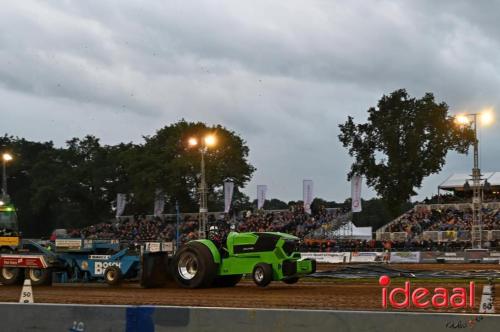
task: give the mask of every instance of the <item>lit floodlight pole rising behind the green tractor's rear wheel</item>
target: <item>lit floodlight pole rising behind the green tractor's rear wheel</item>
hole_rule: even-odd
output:
[[[199,144],[198,139],[195,137],[191,137],[188,140],[188,144],[190,147],[196,147],[200,145],[200,153],[201,153],[201,179],[200,179],[200,224],[198,230],[198,238],[205,239],[206,238],[206,230],[207,230],[207,220],[208,220],[208,204],[207,204],[207,181],[205,176],[205,154],[208,151],[209,147],[214,146],[216,143],[216,139],[214,135],[207,135],[203,137],[201,140],[201,144]]]

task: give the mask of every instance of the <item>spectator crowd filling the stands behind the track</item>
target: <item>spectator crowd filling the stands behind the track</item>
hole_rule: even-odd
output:
[[[240,232],[284,232],[305,239],[307,234],[324,229],[328,230],[346,216],[347,211],[339,209],[321,209],[314,215],[305,213],[302,208],[292,208],[286,211],[258,211],[243,213],[231,218],[221,215],[222,219],[214,215],[209,216],[209,224],[229,225]],[[483,208],[482,223],[484,230],[500,229],[499,209]],[[224,227],[224,226],[223,226]],[[304,251],[373,251],[373,250],[463,250],[470,246],[462,239],[462,234],[470,234],[472,227],[472,211],[448,207],[446,209],[412,209],[390,223],[385,232],[406,233],[399,241],[376,240],[340,240],[325,239],[321,241],[304,241]],[[439,242],[437,239],[427,238],[426,231],[442,231],[447,236],[453,235],[454,240]],[[119,239],[123,242],[134,243],[144,241],[173,241],[176,238],[175,218],[135,216],[125,217],[108,223],[100,223],[80,230],[70,230],[71,237],[85,239]],[[179,240],[181,243],[198,238],[198,217],[196,214],[184,216],[179,223]],[[451,238],[451,237],[450,237]],[[465,237],[464,237],[465,239]],[[487,241],[485,247],[498,247],[498,240]]]

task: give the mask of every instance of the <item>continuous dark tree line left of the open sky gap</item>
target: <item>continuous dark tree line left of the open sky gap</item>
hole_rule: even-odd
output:
[[[235,183],[235,208],[245,208],[251,203],[238,188],[255,167],[248,161],[246,142],[220,125],[181,120],[144,136],[139,144],[103,145],[97,137],[85,136],[56,147],[53,142],[0,137],[0,151],[14,156],[8,165],[9,194],[23,234],[41,236],[55,228],[109,220],[117,193],[129,194],[126,214],[151,214],[156,190],[165,195],[166,213],[175,212],[176,202],[183,212],[196,211],[200,151],[187,141],[208,134],[217,139],[205,157],[209,209],[223,204],[226,179]]]

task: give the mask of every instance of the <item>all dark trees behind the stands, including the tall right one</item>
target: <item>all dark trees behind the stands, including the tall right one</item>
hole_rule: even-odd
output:
[[[382,226],[411,206],[425,177],[439,172],[449,151],[467,153],[474,141],[470,126],[459,127],[448,105],[432,93],[411,97],[399,89],[382,96],[367,111],[365,123],[353,117],[339,125],[338,139],[354,158],[348,179],[365,177],[379,198],[363,201],[358,226]],[[253,209],[255,201],[243,188],[255,172],[249,148],[235,132],[220,125],[181,120],[144,136],[141,143],[103,145],[94,136],[73,138],[63,147],[5,135],[0,150],[14,155],[9,164],[9,194],[18,208],[25,235],[45,235],[54,228],[83,227],[113,217],[117,193],[129,194],[125,214],[151,214],[155,192],[166,197],[165,213],[198,209],[200,151],[187,144],[190,137],[207,134],[217,144],[206,153],[210,211],[222,211],[223,182],[235,184],[233,212]],[[271,199],[264,209],[286,209],[300,202]],[[323,207],[349,208],[317,198],[313,211]]]

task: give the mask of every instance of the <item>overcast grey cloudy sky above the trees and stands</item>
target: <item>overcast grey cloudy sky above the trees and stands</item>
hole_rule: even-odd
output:
[[[93,134],[141,142],[181,118],[222,124],[250,147],[247,193],[350,195],[338,124],[384,93],[433,92],[455,113],[500,109],[500,2],[5,1],[0,133],[62,145]],[[500,125],[481,131],[500,170]],[[449,154],[417,198],[471,156]],[[364,188],[365,197],[373,192]]]

